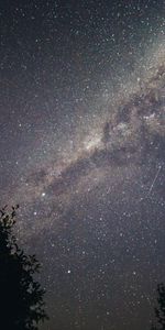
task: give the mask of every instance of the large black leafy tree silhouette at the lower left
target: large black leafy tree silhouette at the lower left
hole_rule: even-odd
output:
[[[18,246],[12,233],[18,207],[0,210],[0,329],[36,330],[47,319],[44,290],[33,278],[40,263]]]

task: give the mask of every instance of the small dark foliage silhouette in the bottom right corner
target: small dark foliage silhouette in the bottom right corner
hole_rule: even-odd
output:
[[[157,307],[155,308],[155,316],[157,326],[152,326],[151,330],[165,330],[165,286],[157,285]]]

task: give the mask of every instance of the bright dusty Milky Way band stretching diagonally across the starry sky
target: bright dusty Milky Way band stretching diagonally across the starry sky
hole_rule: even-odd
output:
[[[33,172],[22,178],[21,185],[14,191],[19,197],[12,202],[16,202],[21,199],[20,196],[23,196],[20,202],[25,202],[30,209],[35,208],[35,205],[45,211],[48,209],[47,221],[56,226],[59,219],[63,221],[64,212],[67,212],[75,198],[81,199],[84,194],[96,190],[99,184],[107,186],[108,182],[109,190],[117,196],[113,189],[121,194],[121,179],[127,180],[125,170],[128,180],[130,183],[140,180],[139,186],[143,172],[144,176],[151,175],[150,172],[154,176],[157,166],[161,166],[163,172],[165,134],[163,56],[164,52],[161,48],[157,62],[154,63],[155,67],[150,67],[145,73],[145,80],[141,81],[138,77],[135,91],[116,99],[116,106],[109,106],[107,121],[99,123],[98,117],[98,128],[90,127],[78,145],[73,141],[75,147],[66,151],[64,156],[59,155],[57,161],[56,157],[52,161],[48,157],[40,168],[34,164]],[[152,193],[152,177],[151,180],[150,176],[145,180],[139,200],[145,198],[147,193],[148,195]],[[59,205],[62,212],[58,210]],[[47,221],[42,224],[34,221],[35,235],[47,227]]]

